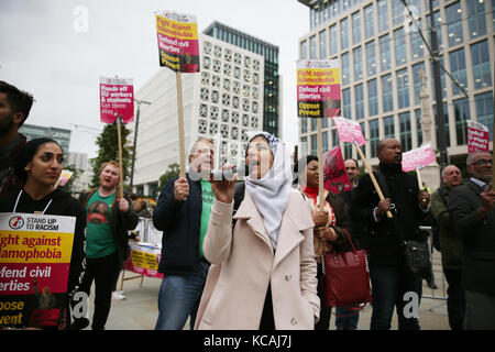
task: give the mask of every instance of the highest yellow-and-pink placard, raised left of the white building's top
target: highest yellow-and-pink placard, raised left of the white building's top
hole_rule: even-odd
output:
[[[199,72],[198,23],[195,15],[156,14],[160,66],[174,72]]]

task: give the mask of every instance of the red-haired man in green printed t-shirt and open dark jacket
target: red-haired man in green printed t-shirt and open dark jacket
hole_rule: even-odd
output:
[[[79,200],[87,213],[86,256],[88,268],[81,289],[89,297],[95,280],[95,314],[91,329],[105,329],[110,312],[112,290],[128,253],[128,231],[134,230],[139,218],[132,204],[117,196],[120,165],[108,162],[100,167],[100,186],[81,194]],[[87,318],[77,319],[73,329],[89,324]]]

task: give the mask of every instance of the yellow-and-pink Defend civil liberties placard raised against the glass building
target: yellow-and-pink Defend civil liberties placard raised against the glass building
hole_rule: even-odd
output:
[[[340,114],[340,64],[337,59],[297,62],[299,118],[334,118]]]

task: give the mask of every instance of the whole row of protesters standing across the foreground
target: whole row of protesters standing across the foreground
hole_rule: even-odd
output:
[[[339,330],[355,330],[366,304],[373,309],[370,329],[391,329],[395,310],[399,329],[419,330],[410,307],[420,305],[430,266],[428,232],[420,226],[433,219],[451,329],[495,329],[491,152],[469,154],[464,178],[457,165],[444,167],[441,186],[430,195],[415,173],[403,170],[400,143],[386,139],[377,143],[376,170],[361,173],[359,161],[342,161],[351,189],[321,191],[322,161],[307,155],[293,162],[284,142],[270,133],[252,132],[245,172],[223,165],[220,178],[211,176],[213,142],[200,138],[188,151],[186,175],[165,184],[151,211],[136,195],[119,191],[122,169],[116,161],[101,166],[99,186],[79,199],[57,188],[61,145],[46,138],[28,142],[18,132],[32,105],[29,92],[0,81],[0,213],[75,219],[65,293],[52,293],[43,276],[24,293],[36,297],[31,322],[55,321],[37,327],[105,329],[112,299],[124,298],[117,283],[130,239],[140,240],[133,230],[148,218],[163,231],[156,330],[184,329],[188,319],[191,330],[329,330],[331,319]],[[2,235],[0,250],[13,241]],[[416,253],[425,245],[426,253]],[[349,253],[363,255],[364,266],[350,260],[354,271],[340,271],[338,260]],[[77,297],[88,299],[91,287],[95,309],[81,317]],[[0,327],[32,327],[6,322]]]

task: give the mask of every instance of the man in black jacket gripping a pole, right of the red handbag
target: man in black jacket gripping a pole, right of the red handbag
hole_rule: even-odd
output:
[[[375,176],[386,198],[380,200],[366,174],[361,177],[351,205],[351,217],[360,222],[354,228],[363,229],[362,237],[367,238],[373,290],[371,329],[389,329],[394,307],[399,329],[419,329],[421,276],[404,268],[403,242],[426,240],[419,222],[429,210],[430,195],[418,189],[415,176],[403,172],[403,148],[398,141],[378,142],[377,155],[380,168]],[[387,218],[387,211],[393,213],[392,219]],[[416,307],[405,309],[410,305]]]

